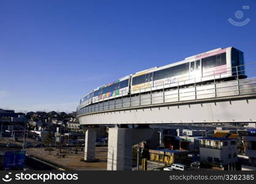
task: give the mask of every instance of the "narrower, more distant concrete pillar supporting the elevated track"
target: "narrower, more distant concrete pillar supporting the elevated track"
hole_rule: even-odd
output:
[[[98,128],[85,128],[85,161],[95,160],[95,143]]]

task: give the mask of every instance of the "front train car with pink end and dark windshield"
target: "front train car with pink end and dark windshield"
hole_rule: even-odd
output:
[[[244,75],[241,65],[244,65],[241,51],[233,47],[217,48],[134,74],[131,78],[131,94],[241,76]]]

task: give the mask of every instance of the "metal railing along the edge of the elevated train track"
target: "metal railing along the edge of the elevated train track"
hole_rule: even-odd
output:
[[[248,69],[238,70],[244,66]],[[182,80],[184,77],[176,79],[177,83],[161,85],[153,82],[153,86],[145,89],[140,86],[137,93],[120,95],[118,98],[104,98],[86,107],[77,108],[77,116],[100,112],[105,110],[122,109],[127,107],[140,107],[143,105],[164,104],[169,102],[190,101],[197,99],[220,98],[226,96],[239,96],[244,94],[256,94],[256,63],[244,66],[231,67],[230,69],[220,69],[222,72],[211,71],[214,74],[205,75]],[[249,76],[244,78],[244,73]],[[207,72],[209,73],[209,72]],[[217,73],[217,74],[216,74]],[[225,77],[225,78],[223,78]],[[233,80],[223,81],[233,77]],[[231,78],[229,78],[231,79]],[[147,85],[149,86],[149,85]],[[158,88],[160,86],[160,88]]]

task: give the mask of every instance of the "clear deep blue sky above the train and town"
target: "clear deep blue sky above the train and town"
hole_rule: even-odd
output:
[[[0,108],[18,112],[71,112],[99,85],[214,48],[255,62],[255,0],[1,0],[0,27]]]

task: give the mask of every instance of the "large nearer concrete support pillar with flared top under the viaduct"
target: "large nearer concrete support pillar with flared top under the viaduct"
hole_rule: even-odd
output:
[[[109,128],[107,170],[131,170],[133,145],[153,136],[150,128]]]

